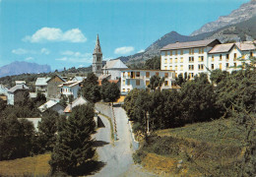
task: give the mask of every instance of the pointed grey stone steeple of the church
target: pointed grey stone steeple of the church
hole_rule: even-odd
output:
[[[93,56],[93,72],[96,76],[99,76],[102,74],[102,52],[99,44],[98,34],[96,35],[96,48]]]

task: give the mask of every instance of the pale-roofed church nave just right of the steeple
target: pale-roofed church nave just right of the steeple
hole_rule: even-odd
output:
[[[108,80],[118,80],[121,78],[121,70],[127,68],[120,59],[106,61],[106,64],[102,68],[103,75],[99,76],[98,79],[107,78]]]

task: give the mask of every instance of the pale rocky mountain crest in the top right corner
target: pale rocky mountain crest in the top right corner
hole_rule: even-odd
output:
[[[197,35],[204,32],[221,29],[225,26],[237,24],[246,21],[256,15],[256,0],[242,4],[238,9],[232,11],[228,16],[221,16],[217,21],[204,25],[197,29],[191,35]]]

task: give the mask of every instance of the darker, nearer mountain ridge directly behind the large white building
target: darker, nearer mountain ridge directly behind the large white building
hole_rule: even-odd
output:
[[[181,35],[176,31],[166,33],[160,39],[151,44],[145,52],[136,53],[127,57],[119,57],[127,65],[144,62],[154,56],[160,56],[160,48],[176,41],[194,41],[208,38],[218,38],[221,42],[227,41],[245,41],[256,39],[256,16],[240,22],[238,24],[228,25],[215,31],[200,33],[197,35]]]

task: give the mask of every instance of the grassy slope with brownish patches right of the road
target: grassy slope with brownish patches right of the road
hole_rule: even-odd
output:
[[[231,119],[160,130],[134,154],[135,162],[160,175],[235,176],[245,131]]]

